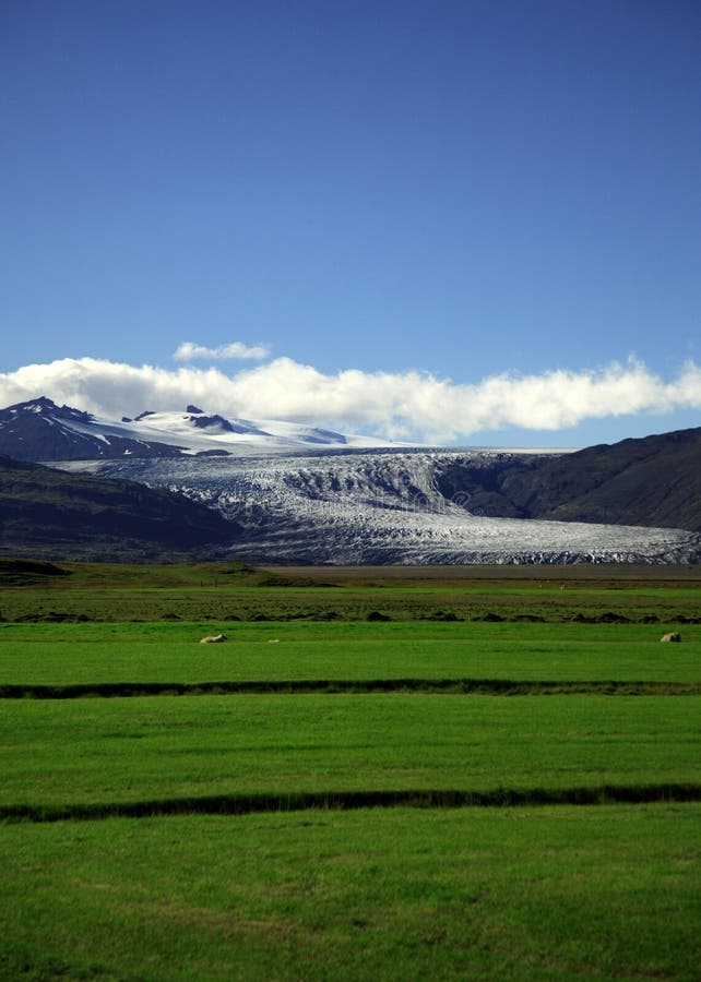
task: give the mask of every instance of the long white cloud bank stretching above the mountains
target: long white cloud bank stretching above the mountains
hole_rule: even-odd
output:
[[[324,374],[289,358],[231,375],[216,368],[174,371],[67,358],[0,374],[0,406],[40,395],[110,417],[195,403],[229,417],[452,443],[488,430],[556,431],[605,417],[698,409],[701,368],[689,361],[664,381],[629,359],[598,371],[504,373],[465,384],[420,372]]]

